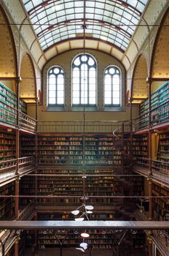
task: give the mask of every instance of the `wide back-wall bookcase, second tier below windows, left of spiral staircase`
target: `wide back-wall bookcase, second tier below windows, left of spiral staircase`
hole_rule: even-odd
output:
[[[82,170],[39,170],[42,176],[38,176],[38,195],[50,195],[49,198],[40,198],[40,206],[68,206],[76,205],[80,202],[79,198],[83,196],[82,192]],[[121,201],[115,198],[109,198],[109,195],[120,195],[122,192],[122,183],[115,178],[114,170],[86,170],[86,174],[95,175],[87,176],[85,181],[86,196],[107,196],[90,198],[89,202],[93,205],[100,203],[103,205],[121,206]],[[46,176],[43,176],[45,174]],[[59,176],[52,176],[57,174]],[[110,174],[112,176],[99,176]],[[70,176],[69,176],[70,175]],[[74,175],[74,176],[71,176]],[[79,197],[57,198],[53,195],[72,195]]]

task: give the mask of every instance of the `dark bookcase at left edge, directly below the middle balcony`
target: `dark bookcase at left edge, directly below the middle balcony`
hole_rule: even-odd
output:
[[[15,194],[15,183],[10,182],[9,184],[0,187],[0,195],[14,195]],[[0,220],[12,219],[15,214],[15,199],[14,197],[1,197],[0,198]]]

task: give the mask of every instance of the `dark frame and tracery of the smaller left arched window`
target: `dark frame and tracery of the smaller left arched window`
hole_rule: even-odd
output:
[[[58,83],[55,83],[55,103],[49,103],[49,92],[50,92],[50,70],[58,68],[60,71],[63,72],[63,103],[57,103],[58,102]],[[55,81],[58,80],[58,75],[61,73],[59,72],[58,74],[55,74],[52,72],[52,75],[55,75]],[[53,65],[47,70],[47,107],[63,107],[65,105],[65,72],[63,67],[60,67],[59,65]]]

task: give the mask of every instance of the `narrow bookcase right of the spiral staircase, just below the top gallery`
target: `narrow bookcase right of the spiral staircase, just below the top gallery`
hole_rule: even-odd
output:
[[[149,150],[149,140],[148,135],[133,135],[133,159],[136,160],[138,158],[138,162],[146,163],[144,158],[148,158],[148,150]]]

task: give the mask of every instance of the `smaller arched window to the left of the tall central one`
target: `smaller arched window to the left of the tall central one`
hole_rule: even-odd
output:
[[[48,105],[64,104],[64,72],[55,66],[48,71]]]

